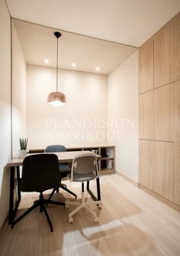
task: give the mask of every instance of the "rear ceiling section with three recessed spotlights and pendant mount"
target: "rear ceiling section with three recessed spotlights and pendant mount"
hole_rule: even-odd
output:
[[[53,28],[34,25],[13,19],[21,41],[27,64],[56,67],[56,37]],[[88,38],[79,34],[60,31],[59,68],[98,74],[110,74],[115,67],[137,51],[137,48],[124,44]],[[44,60],[49,63],[45,64]],[[72,63],[76,67],[72,67]],[[96,71],[99,67],[99,71]]]

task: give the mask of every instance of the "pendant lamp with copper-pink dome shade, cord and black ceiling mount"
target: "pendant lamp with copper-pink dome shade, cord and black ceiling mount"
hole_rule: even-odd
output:
[[[47,103],[50,103],[54,106],[63,106],[66,104],[66,96],[58,91],[58,38],[61,36],[61,33],[56,31],[54,32],[54,35],[57,38],[56,91],[49,94]]]

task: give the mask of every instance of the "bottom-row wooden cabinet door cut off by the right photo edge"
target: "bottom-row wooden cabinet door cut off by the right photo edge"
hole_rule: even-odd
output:
[[[180,144],[175,143],[174,156],[174,202],[180,205]]]

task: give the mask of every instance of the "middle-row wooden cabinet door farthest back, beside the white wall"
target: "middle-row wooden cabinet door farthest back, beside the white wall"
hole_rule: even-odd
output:
[[[139,95],[139,137],[153,139],[153,90]]]

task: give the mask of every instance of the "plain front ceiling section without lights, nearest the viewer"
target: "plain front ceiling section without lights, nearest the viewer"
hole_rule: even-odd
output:
[[[11,17],[140,47],[178,11],[180,0],[6,0]]]

